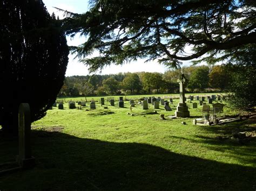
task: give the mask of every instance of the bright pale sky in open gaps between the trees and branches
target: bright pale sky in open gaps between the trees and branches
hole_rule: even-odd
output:
[[[89,9],[87,0],[43,0],[48,12],[51,14],[55,12],[56,16],[59,18],[63,18],[62,12],[58,11],[53,7],[57,7],[63,10],[68,10],[70,12],[75,13],[84,13]],[[69,46],[77,46],[84,42],[83,37],[79,37],[76,35],[75,38],[70,39],[70,37],[66,37]],[[72,75],[91,75],[89,74],[88,67],[83,63],[79,62],[78,59],[74,59],[75,55],[69,55],[69,63],[66,69],[65,76]],[[190,65],[189,62],[185,62],[183,66]],[[160,65],[157,60],[144,62],[144,60],[140,59],[137,61],[132,61],[130,63],[126,63],[122,66],[110,65],[106,66],[101,73],[97,72],[96,74],[116,74],[116,73],[124,73],[124,72],[159,72],[164,73],[168,70],[164,65]],[[94,73],[93,73],[94,74]]]

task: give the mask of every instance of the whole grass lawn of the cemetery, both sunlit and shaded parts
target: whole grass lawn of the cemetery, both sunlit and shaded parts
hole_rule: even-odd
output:
[[[255,190],[255,119],[194,126],[202,106],[187,103],[190,118],[170,119],[173,101],[172,111],[149,104],[131,112],[128,101],[125,108],[106,101],[108,109],[98,102],[93,110],[89,103],[81,110],[53,107],[32,123],[35,168],[0,176],[0,190]],[[240,143],[233,132],[254,137]],[[17,141],[0,136],[0,163],[14,160]]]

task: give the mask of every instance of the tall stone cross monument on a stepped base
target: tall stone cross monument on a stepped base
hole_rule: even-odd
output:
[[[189,117],[190,112],[185,103],[185,87],[184,82],[186,81],[184,74],[181,74],[181,77],[177,82],[179,83],[179,104],[177,105],[177,111],[175,112],[176,117]]]

